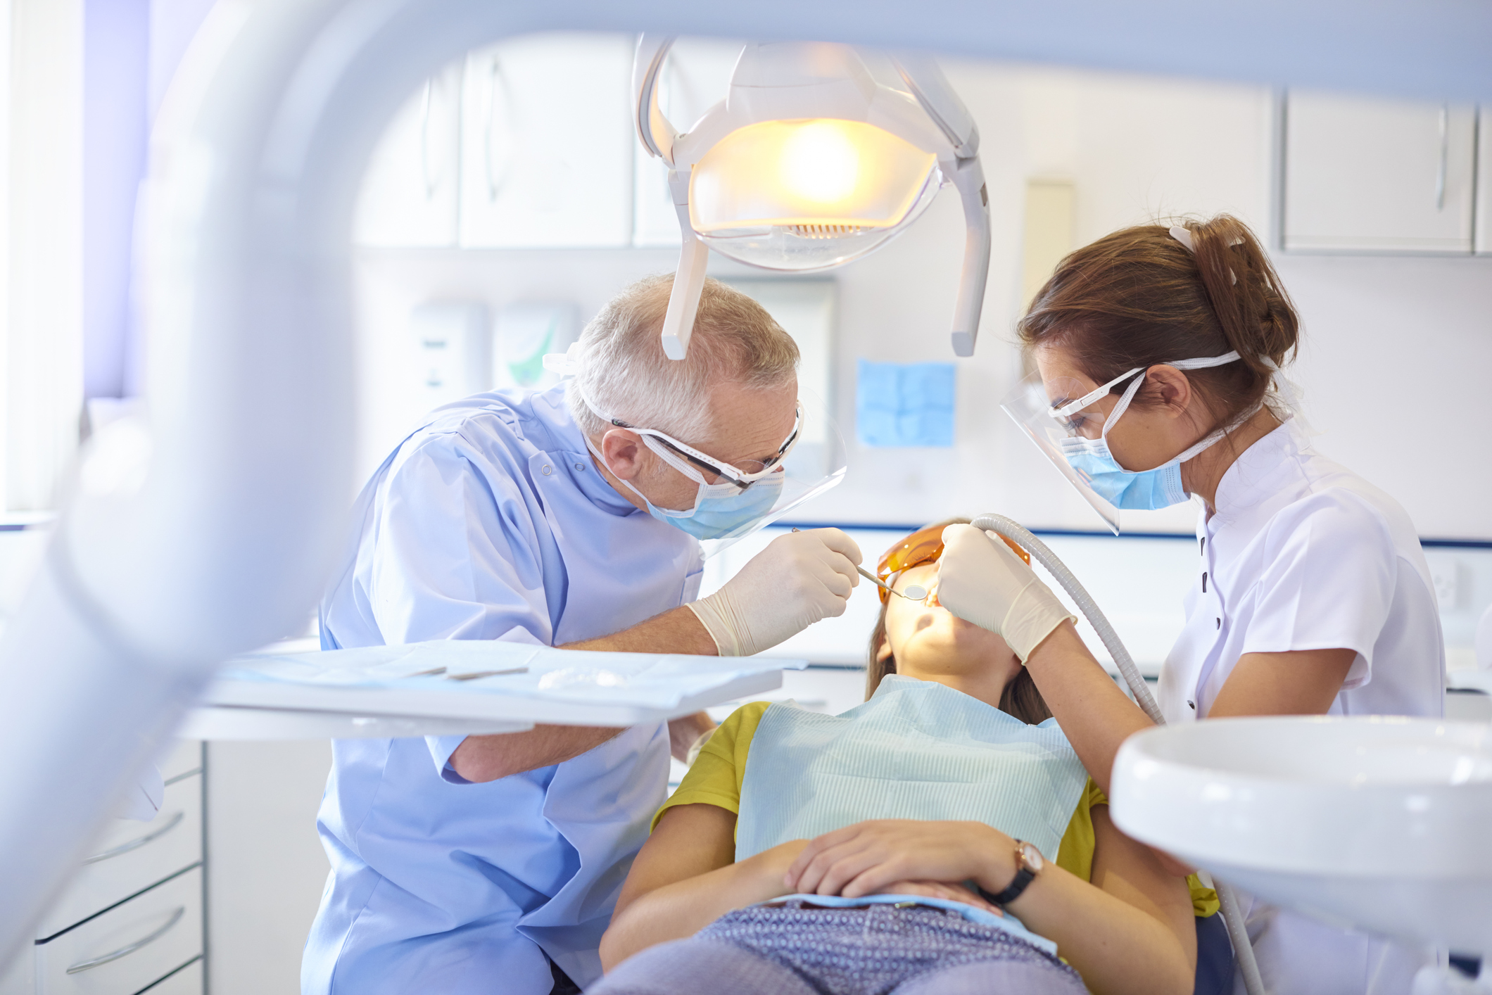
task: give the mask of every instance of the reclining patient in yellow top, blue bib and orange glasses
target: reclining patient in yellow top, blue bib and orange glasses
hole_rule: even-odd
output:
[[[1029,674],[882,558],[867,701],[733,713],[658,812],[594,995],[1185,995],[1216,897],[1109,819]],[[1086,988],[1085,988],[1086,986]]]

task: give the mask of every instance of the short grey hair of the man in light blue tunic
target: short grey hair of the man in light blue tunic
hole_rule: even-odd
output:
[[[671,291],[671,273],[637,280],[580,333],[580,368],[565,400],[586,437],[610,425],[585,400],[607,418],[689,442],[710,431],[713,385],[770,391],[795,376],[792,337],[765,307],[715,279],[706,279],[700,292],[689,355],[670,360],[659,334]]]

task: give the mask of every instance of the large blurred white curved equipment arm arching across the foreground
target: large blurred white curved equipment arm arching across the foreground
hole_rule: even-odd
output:
[[[552,28],[1492,98],[1485,0],[222,0],[152,142],[149,424],[95,439],[0,640],[0,964],[219,661],[316,598],[354,488],[348,233],[382,124],[446,60]]]

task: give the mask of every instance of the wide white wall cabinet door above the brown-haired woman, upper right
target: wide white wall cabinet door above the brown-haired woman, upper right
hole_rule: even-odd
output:
[[[1283,243],[1304,252],[1471,252],[1476,109],[1292,91]]]

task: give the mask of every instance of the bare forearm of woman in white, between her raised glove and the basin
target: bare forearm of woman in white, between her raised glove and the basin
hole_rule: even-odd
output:
[[[1071,622],[1052,630],[1025,665],[1088,774],[1109,794],[1119,744],[1155,724],[1094,659]]]

